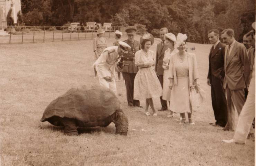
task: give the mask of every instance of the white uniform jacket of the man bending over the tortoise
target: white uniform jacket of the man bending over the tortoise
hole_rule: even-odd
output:
[[[93,67],[96,68],[100,78],[104,78],[106,76],[115,77],[115,67],[117,58],[119,57],[117,49],[118,46],[111,46],[104,49],[103,53],[93,64]]]

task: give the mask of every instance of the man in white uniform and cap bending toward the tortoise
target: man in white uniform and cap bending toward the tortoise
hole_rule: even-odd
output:
[[[121,57],[122,53],[128,53],[128,48],[131,48],[125,42],[118,42],[119,46],[111,46],[107,47],[103,50],[100,57],[95,61],[93,67],[95,67],[100,85],[106,86],[110,90],[112,90],[115,94],[117,94],[116,87],[116,64]]]

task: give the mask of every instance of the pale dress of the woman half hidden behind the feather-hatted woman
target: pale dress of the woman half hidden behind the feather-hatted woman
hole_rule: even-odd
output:
[[[169,88],[170,81],[168,79],[169,75],[168,75],[168,69],[166,69],[166,66],[169,66],[171,55],[175,54],[177,52],[178,52],[177,49],[174,49],[171,52],[170,48],[168,48],[164,52],[164,59],[163,59],[163,68],[164,68],[164,76],[163,77],[164,77],[164,80],[163,80],[163,97],[162,97],[162,99],[166,100],[166,101],[171,100],[171,89]]]

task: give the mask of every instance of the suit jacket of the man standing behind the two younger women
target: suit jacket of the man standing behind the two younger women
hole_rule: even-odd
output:
[[[165,44],[162,46],[162,42],[158,43],[156,46],[156,64],[155,64],[155,71],[158,75],[164,75],[163,69],[163,59],[164,59],[164,52],[168,49],[168,46]]]

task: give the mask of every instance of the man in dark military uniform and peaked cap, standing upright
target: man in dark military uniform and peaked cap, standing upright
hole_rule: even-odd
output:
[[[134,40],[134,36],[136,34],[136,28],[128,28],[126,29],[126,33],[128,36],[128,39],[124,42],[127,43],[131,48],[128,49],[127,54],[122,54],[121,60],[124,61],[124,68],[122,68],[120,71],[122,72],[122,76],[125,80],[125,86],[126,86],[126,96],[127,96],[127,102],[129,106],[137,106],[141,107],[139,100],[133,99],[133,90],[134,90],[134,78],[136,73],[138,72],[138,67],[135,67],[134,64],[134,58],[136,51],[139,50],[139,42]]]

